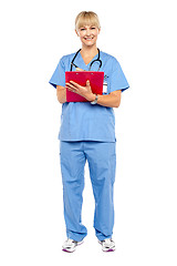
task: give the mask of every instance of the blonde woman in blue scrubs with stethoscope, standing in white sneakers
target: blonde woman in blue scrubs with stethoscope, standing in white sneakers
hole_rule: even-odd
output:
[[[94,229],[104,252],[115,250],[113,186],[116,172],[116,137],[113,108],[118,108],[121,93],[129,88],[117,60],[97,49],[101,32],[97,14],[83,11],[75,19],[75,32],[82,42],[77,53],[61,58],[50,83],[62,103],[60,162],[63,181],[64,218],[67,241],[63,250],[73,252],[87,235],[82,224],[84,166],[87,160],[95,198]],[[96,61],[94,61],[96,60]],[[102,65],[100,63],[102,61]],[[94,61],[94,62],[93,62]],[[93,62],[93,63],[92,63]],[[92,68],[90,68],[92,66]],[[65,84],[65,71],[104,72],[104,92],[94,94],[86,82]],[[85,98],[86,102],[66,102],[66,90]]]

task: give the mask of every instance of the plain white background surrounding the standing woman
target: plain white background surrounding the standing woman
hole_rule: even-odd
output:
[[[79,12],[95,11],[97,47],[121,63],[131,88],[115,110],[116,252],[101,250],[85,165],[85,243],[66,239],[58,133],[61,104],[49,80],[81,48]],[[3,1],[0,7],[0,264],[177,265],[175,1]]]

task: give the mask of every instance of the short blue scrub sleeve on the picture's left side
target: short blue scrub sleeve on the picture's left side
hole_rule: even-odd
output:
[[[49,83],[56,89],[56,85],[65,86],[65,68],[63,63],[63,58],[59,61],[59,64],[53,72],[52,78]]]

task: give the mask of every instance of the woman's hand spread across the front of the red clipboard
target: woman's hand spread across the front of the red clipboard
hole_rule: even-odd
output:
[[[70,83],[65,84],[65,88],[69,91],[72,91],[74,93],[80,94],[81,96],[85,98],[87,101],[93,101],[93,95],[94,94],[92,92],[91,84],[90,84],[88,80],[86,81],[86,86],[82,86],[74,81],[70,81]]]

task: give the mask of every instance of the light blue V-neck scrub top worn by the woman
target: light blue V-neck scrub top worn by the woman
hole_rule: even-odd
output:
[[[70,71],[71,62],[75,53],[64,55],[50,79],[49,83],[55,89],[56,85],[65,86],[65,71]],[[93,60],[97,59],[97,54]],[[100,52],[102,68],[104,72],[104,92],[110,94],[113,91],[125,91],[129,88],[118,61],[105,53]],[[93,61],[92,60],[92,61]],[[91,62],[92,62],[91,61]],[[74,60],[74,63],[88,71],[91,62],[86,65],[81,53]],[[97,71],[100,63],[93,63],[91,71]],[[75,68],[73,66],[73,71]],[[90,102],[65,102],[62,104],[61,126],[59,133],[61,141],[101,141],[116,142],[115,137],[115,114],[113,108],[106,108],[100,104],[92,105]]]

